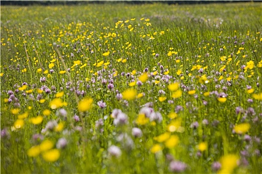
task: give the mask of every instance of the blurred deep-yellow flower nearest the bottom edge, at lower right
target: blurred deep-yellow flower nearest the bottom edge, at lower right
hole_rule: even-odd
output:
[[[238,166],[239,157],[237,155],[228,154],[220,159],[221,170],[218,172],[220,174],[233,173],[234,169]]]

